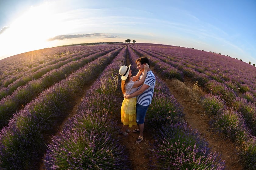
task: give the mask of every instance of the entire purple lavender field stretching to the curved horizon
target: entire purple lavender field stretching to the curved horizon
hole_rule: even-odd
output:
[[[157,73],[147,122],[147,169],[225,170],[221,153],[183,118],[166,80],[189,78],[206,95],[209,128],[256,169],[256,68],[212,52],[171,45],[116,43],[55,47],[0,60],[0,169],[133,169],[118,137],[121,65],[147,56]],[[135,169],[135,168],[134,168]]]

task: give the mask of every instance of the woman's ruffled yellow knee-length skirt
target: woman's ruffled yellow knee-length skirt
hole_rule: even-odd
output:
[[[137,98],[124,98],[121,106],[121,122],[131,128],[136,123],[136,102]]]

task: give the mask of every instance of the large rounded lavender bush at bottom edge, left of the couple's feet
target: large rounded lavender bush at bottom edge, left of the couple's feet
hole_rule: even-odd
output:
[[[90,131],[73,129],[55,136],[44,158],[46,170],[129,169],[120,142],[106,132]]]

